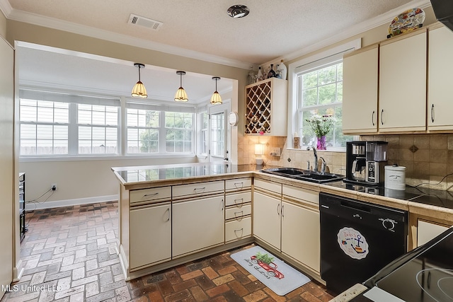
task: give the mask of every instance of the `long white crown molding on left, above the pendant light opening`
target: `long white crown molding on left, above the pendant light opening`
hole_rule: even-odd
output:
[[[33,25],[39,25],[56,30],[64,30],[69,33],[76,33],[79,35],[85,35],[87,37],[95,37],[97,39],[108,40],[110,42],[117,42],[125,45],[133,45],[135,47],[141,47],[147,50],[155,50],[167,54],[174,54],[180,57],[188,57],[190,59],[198,59],[205,62],[233,66],[241,69],[251,69],[251,67],[253,66],[253,64],[249,62],[241,62],[239,60],[215,56],[213,54],[206,54],[203,52],[186,50],[180,47],[174,47],[171,45],[165,45],[158,42],[139,39],[137,37],[130,37],[128,35],[113,33],[108,30],[91,28],[85,25],[61,21],[56,18],[44,17],[35,13],[19,11],[14,8],[11,8],[11,5],[9,4],[8,0],[0,0],[0,9],[1,11],[3,11],[6,18],[13,21],[30,23]]]

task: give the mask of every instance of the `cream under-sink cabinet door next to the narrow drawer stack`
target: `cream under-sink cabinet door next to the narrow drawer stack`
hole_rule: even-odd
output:
[[[280,250],[280,198],[253,192],[253,236]]]

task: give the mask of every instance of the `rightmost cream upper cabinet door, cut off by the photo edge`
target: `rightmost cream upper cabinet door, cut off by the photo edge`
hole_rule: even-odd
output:
[[[453,129],[453,33],[430,30],[428,52],[428,130]]]

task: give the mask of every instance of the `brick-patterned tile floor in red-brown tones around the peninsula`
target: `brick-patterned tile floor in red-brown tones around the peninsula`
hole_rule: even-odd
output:
[[[1,302],[12,301],[329,301],[310,281],[277,296],[229,257],[207,257],[126,282],[115,253],[117,202],[27,213],[25,271]],[[245,247],[248,248],[248,247]]]

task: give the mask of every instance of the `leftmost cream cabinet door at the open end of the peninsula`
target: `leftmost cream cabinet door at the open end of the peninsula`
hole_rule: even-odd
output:
[[[130,268],[171,259],[171,204],[130,211]]]

